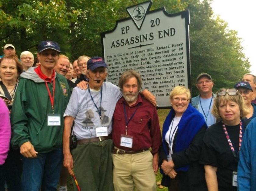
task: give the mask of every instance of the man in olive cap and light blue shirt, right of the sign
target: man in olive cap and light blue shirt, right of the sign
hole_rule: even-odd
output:
[[[192,98],[192,106],[203,114],[206,124],[211,126],[215,124],[216,118],[212,115],[213,99],[216,97],[212,93],[214,83],[212,77],[208,73],[200,73],[197,76],[196,87],[199,90],[199,95]]]

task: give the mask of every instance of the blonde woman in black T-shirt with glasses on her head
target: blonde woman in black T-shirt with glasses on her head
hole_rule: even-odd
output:
[[[204,165],[208,190],[236,190],[236,172],[244,130],[250,120],[248,109],[236,89],[221,89],[212,114],[217,123],[204,135],[200,163]]]

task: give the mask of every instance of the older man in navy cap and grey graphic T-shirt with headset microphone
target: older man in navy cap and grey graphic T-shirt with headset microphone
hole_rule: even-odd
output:
[[[108,74],[107,64],[101,57],[88,60],[87,70],[90,77],[87,89],[73,89],[64,114],[63,163],[71,175],[75,174],[81,190],[114,190],[111,156],[112,118],[122,92],[116,85],[104,82]],[[145,92],[148,91],[144,90],[144,95]],[[151,94],[148,99],[154,102],[153,97]],[[69,138],[73,121],[75,123],[72,135],[77,138],[77,146],[70,151]],[[76,189],[75,182],[73,185]]]

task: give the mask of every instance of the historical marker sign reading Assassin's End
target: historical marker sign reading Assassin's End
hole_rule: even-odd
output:
[[[190,83],[189,11],[168,14],[165,8],[149,11],[152,2],[127,8],[130,17],[101,33],[107,81],[118,84],[121,73],[136,70],[143,88],[157,98],[160,108],[170,107],[175,86]]]

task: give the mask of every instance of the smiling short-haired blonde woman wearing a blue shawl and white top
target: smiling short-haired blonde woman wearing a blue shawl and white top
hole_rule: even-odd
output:
[[[162,129],[159,165],[162,185],[169,190],[206,190],[204,167],[199,164],[207,124],[190,102],[190,91],[177,86],[170,94],[172,109]]]

